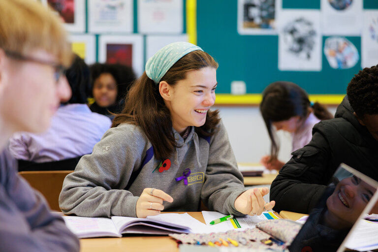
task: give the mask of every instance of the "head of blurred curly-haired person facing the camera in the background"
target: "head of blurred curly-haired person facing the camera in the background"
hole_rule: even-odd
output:
[[[90,109],[113,119],[113,113],[122,110],[126,93],[135,81],[135,73],[131,67],[122,64],[95,63],[90,69],[95,99]]]

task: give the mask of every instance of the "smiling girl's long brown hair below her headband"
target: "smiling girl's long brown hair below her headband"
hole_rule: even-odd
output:
[[[166,81],[174,86],[177,81],[185,79],[189,71],[207,66],[217,69],[218,63],[203,51],[193,51],[177,61],[160,81]],[[220,121],[218,114],[218,110],[208,111],[205,124],[195,127],[195,131],[202,136],[214,134],[214,129]],[[130,88],[126,95],[125,107],[114,118],[112,127],[122,123],[142,127],[154,147],[154,155],[157,159],[162,160],[172,155],[176,142],[171,115],[159,93],[159,85],[155,84],[146,72]]]

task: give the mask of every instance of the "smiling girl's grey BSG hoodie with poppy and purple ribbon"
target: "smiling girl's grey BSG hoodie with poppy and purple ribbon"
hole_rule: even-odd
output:
[[[63,183],[59,204],[65,214],[87,217],[136,217],[136,202],[145,188],[173,197],[164,211],[198,211],[200,200],[211,210],[242,215],[235,199],[245,191],[225,127],[220,122],[211,137],[190,127],[187,139],[174,131],[177,148],[171,166],[159,172],[151,142],[139,126],[109,129],[91,155],[83,156]],[[176,181],[190,169],[187,178]],[[188,170],[187,170],[188,173]],[[187,182],[187,185],[185,185]]]

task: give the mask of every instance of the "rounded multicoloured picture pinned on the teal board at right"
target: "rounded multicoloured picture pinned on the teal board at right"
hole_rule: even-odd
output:
[[[332,68],[347,69],[357,64],[357,48],[345,37],[328,37],[324,42],[324,55]]]

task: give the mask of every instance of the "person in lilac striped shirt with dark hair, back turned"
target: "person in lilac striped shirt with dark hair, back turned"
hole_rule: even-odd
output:
[[[12,156],[32,161],[19,162],[19,171],[74,170],[80,157],[92,153],[95,144],[111,126],[108,117],[92,112],[86,104],[92,90],[89,67],[84,60],[75,55],[65,77],[72,96],[58,108],[49,129],[37,134],[18,132],[10,138]],[[66,161],[46,164],[62,160]]]

